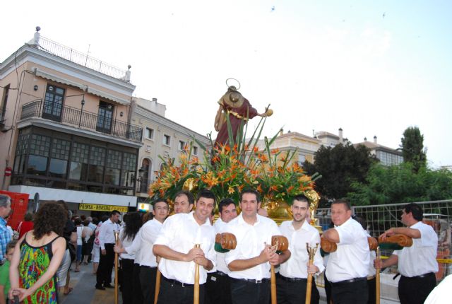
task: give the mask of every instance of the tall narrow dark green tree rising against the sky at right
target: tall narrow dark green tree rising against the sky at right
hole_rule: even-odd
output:
[[[418,172],[427,164],[427,155],[424,149],[424,135],[418,127],[408,127],[403,132],[402,144],[403,160],[412,163],[412,170]]]

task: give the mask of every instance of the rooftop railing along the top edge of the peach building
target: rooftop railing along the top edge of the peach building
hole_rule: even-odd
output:
[[[130,80],[126,77],[126,70],[119,69],[116,66],[102,62],[102,60],[100,59],[95,59],[88,56],[87,54],[83,54],[82,52],[78,52],[75,49],[71,49],[70,47],[60,45],[59,43],[42,36],[40,36],[39,48],[47,53],[54,54],[55,56],[69,60],[70,62],[76,64],[80,64],[81,66],[85,66],[88,69],[93,69],[102,74],[112,76],[113,78],[117,78],[121,81]]]

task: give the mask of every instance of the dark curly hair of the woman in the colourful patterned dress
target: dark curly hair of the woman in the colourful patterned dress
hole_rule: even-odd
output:
[[[66,210],[54,201],[49,201],[40,206],[35,214],[33,235],[40,240],[44,235],[57,233],[63,235],[64,225],[67,221]]]

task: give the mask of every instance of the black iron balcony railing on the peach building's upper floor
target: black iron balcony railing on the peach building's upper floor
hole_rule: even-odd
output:
[[[141,142],[143,128],[117,119],[104,119],[94,113],[69,107],[67,105],[45,104],[44,100],[33,100],[22,106],[20,119],[41,117],[54,122],[61,122],[71,127],[90,129],[103,134],[110,134],[122,139]]]

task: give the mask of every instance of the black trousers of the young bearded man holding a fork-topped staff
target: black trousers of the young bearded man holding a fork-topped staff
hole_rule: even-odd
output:
[[[285,281],[280,274],[276,276],[276,298],[278,304],[299,304],[306,300],[307,279]],[[319,304],[320,295],[314,278],[311,283],[311,304]]]

